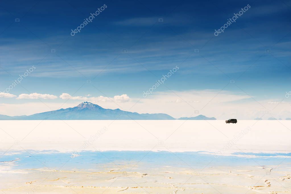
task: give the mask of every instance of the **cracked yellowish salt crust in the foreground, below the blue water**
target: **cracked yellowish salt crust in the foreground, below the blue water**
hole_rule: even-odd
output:
[[[266,175],[267,170],[263,167],[213,167],[202,170],[174,167],[140,170],[138,167],[131,167],[122,166],[121,169],[111,166],[101,172],[47,169],[12,171],[9,174],[0,174],[0,178],[6,182],[1,190],[6,194],[291,193],[290,175],[281,169]]]

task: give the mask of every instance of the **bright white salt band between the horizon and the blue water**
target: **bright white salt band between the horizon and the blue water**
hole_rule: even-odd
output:
[[[222,120],[0,121],[0,128],[3,152],[8,149],[63,152],[224,149],[224,155],[291,152],[291,121],[243,120],[237,124]],[[84,146],[85,142],[88,146]]]

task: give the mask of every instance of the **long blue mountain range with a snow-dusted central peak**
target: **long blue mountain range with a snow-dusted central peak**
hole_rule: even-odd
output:
[[[139,114],[120,109],[105,109],[97,104],[83,102],[78,106],[55,111],[42,112],[29,116],[14,116],[0,114],[0,120],[175,120],[168,114]],[[216,120],[214,117],[181,117],[179,120]]]

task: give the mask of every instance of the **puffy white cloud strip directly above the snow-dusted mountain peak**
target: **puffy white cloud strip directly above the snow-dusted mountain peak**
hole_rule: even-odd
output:
[[[88,95],[86,95],[88,96]],[[91,102],[116,102],[116,103],[124,103],[129,102],[131,99],[127,94],[122,94],[120,96],[114,96],[113,98],[105,97],[105,96],[97,96],[97,97],[86,97],[86,96],[71,96],[70,94],[63,93],[60,98],[63,100],[88,100]]]

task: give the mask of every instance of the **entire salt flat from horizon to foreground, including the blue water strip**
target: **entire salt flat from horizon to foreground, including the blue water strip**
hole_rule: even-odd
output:
[[[0,128],[6,194],[291,193],[290,154],[282,154],[291,153],[291,121],[0,121]]]

